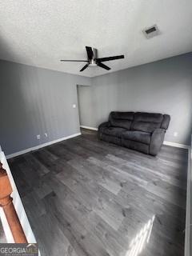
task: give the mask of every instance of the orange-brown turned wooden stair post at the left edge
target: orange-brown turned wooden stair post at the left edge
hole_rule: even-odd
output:
[[[7,222],[10,226],[11,233],[16,243],[27,243],[26,235],[22,230],[18,214],[14,209],[13,198],[10,194],[13,192],[10,180],[6,174],[6,170],[2,168],[0,162],[0,206],[4,210]]]

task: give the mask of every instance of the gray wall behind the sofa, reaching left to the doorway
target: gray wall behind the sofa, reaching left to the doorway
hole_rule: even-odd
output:
[[[92,78],[78,94],[82,126],[98,127],[112,110],[158,112],[171,116],[166,141],[190,144],[192,54]]]

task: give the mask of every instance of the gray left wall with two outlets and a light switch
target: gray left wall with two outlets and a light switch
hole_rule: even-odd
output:
[[[0,61],[2,150],[12,154],[78,133],[77,84],[90,78]]]

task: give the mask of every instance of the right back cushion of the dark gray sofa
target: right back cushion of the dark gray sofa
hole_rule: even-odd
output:
[[[134,114],[134,122],[132,123],[131,130],[153,133],[155,129],[161,127],[162,121],[162,114],[137,112]]]

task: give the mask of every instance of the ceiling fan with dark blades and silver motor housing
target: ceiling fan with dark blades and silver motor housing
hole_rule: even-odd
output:
[[[105,70],[110,70],[109,66],[106,66],[102,62],[113,61],[114,59],[124,58],[124,55],[111,56],[106,58],[98,58],[98,50],[90,46],[86,46],[87,60],[70,60],[61,59],[61,62],[87,62],[86,66],[83,66],[80,72],[85,70],[88,66],[100,66]]]

